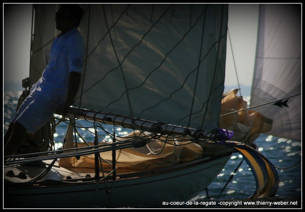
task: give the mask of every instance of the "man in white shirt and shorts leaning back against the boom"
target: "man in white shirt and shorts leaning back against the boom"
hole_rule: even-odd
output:
[[[84,64],[84,40],[77,30],[83,9],[77,4],[60,5],[56,29],[61,31],[52,43],[49,63],[31,88],[4,135],[4,155],[16,153],[26,132],[34,134],[58,110],[72,105]]]

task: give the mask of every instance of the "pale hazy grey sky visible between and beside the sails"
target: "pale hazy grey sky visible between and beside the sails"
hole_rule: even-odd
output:
[[[29,76],[32,4],[4,4],[3,12],[3,83],[20,83],[21,90],[21,80]],[[257,4],[229,4],[228,29],[241,87],[252,83],[257,20]],[[231,45],[225,86],[237,88]]]

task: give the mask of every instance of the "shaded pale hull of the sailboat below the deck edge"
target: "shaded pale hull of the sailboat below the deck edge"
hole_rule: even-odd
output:
[[[214,160],[199,159],[185,165],[142,172],[145,176],[125,174],[116,181],[107,181],[109,194],[106,194],[104,181],[41,180],[27,186],[8,183],[4,189],[4,208],[116,208],[156,204],[162,207],[163,202],[186,202],[207,188],[228,159],[228,155]],[[54,175],[54,171],[56,169],[52,168],[50,172]],[[12,180],[11,177],[5,179]]]

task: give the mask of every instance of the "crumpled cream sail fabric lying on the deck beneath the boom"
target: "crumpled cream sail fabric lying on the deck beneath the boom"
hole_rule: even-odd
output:
[[[67,130],[67,137],[64,148],[71,149],[75,148],[75,143],[73,143],[73,128],[70,127]],[[134,131],[129,135],[124,136],[124,138],[118,138],[118,140],[126,140],[128,138],[133,138],[135,136],[146,136],[149,133],[140,133],[139,131]],[[182,142],[168,141],[169,143],[182,144]],[[186,140],[187,142],[187,140]],[[102,144],[102,143],[100,143]],[[93,146],[90,143],[90,146]],[[194,160],[201,157],[203,152],[202,147],[197,144],[191,143],[185,146],[173,146],[170,144],[165,144],[162,139],[159,142],[150,142],[145,147],[142,148],[128,148],[116,150],[116,167],[125,168],[128,170],[151,170],[154,168],[167,167],[180,162],[186,162]],[[78,142],[78,147],[87,146],[85,143]],[[149,150],[150,149],[150,150]],[[160,150],[162,150],[160,152]],[[159,153],[154,155],[151,153]],[[100,153],[103,168],[112,168],[112,151]],[[79,160],[76,157],[61,158],[59,160],[59,165],[63,167],[77,167],[77,168],[94,168],[94,154],[88,156],[81,156]],[[107,162],[108,163],[107,163]]]

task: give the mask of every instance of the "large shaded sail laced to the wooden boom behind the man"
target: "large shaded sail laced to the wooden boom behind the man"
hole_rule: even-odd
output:
[[[86,59],[74,106],[207,131],[217,127],[228,5],[81,6]],[[35,7],[31,71],[41,76],[59,34],[58,5]]]

